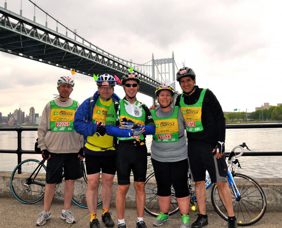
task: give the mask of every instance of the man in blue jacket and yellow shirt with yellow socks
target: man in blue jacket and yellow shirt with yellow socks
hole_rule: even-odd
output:
[[[113,227],[114,222],[109,213],[112,198],[113,179],[116,174],[116,150],[112,136],[106,134],[106,114],[109,106],[120,100],[114,93],[115,78],[102,74],[96,80],[98,91],[86,99],[77,110],[74,119],[75,130],[84,135],[84,152],[88,187],[86,200],[90,214],[90,228],[100,228],[97,219],[98,187],[102,170],[102,221],[106,227]]]

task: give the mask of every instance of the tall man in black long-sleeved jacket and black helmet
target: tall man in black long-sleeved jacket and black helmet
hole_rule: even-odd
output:
[[[228,211],[229,228],[236,228],[232,199],[227,185],[228,167],[225,161],[225,118],[218,100],[211,90],[196,86],[194,70],[181,68],[176,74],[183,93],[176,98],[184,118],[188,138],[188,159],[195,181],[199,214],[192,228],[208,224],[206,214],[206,171],[216,183],[220,197]]]

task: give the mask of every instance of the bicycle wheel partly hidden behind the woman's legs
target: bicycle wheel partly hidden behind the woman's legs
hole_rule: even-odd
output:
[[[145,211],[157,217],[160,213],[159,210],[159,201],[158,201],[158,187],[157,187],[157,181],[155,178],[155,173],[149,175],[146,178],[145,181]],[[175,214],[179,210],[176,197],[175,197],[175,190],[173,187],[171,187],[171,202],[170,202],[170,208],[169,208],[169,215]]]

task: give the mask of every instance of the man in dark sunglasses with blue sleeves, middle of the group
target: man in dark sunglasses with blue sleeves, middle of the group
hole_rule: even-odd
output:
[[[118,190],[115,198],[118,228],[126,228],[125,196],[130,185],[131,170],[136,191],[136,228],[147,228],[143,221],[147,172],[145,135],[155,134],[155,123],[148,107],[136,99],[140,82],[137,73],[129,72],[123,76],[125,97],[110,106],[106,118],[107,134],[118,138],[116,155]]]

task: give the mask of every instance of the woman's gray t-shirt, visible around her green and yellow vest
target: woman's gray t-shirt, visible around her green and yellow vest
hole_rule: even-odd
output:
[[[173,114],[173,112],[174,106],[168,112],[162,111],[159,106],[155,109],[156,116],[159,118],[169,117]],[[175,162],[188,158],[187,141],[184,135],[184,119],[181,114],[180,108],[178,109],[177,121],[180,139],[176,142],[156,142],[153,139],[151,144],[151,158],[161,162]]]

